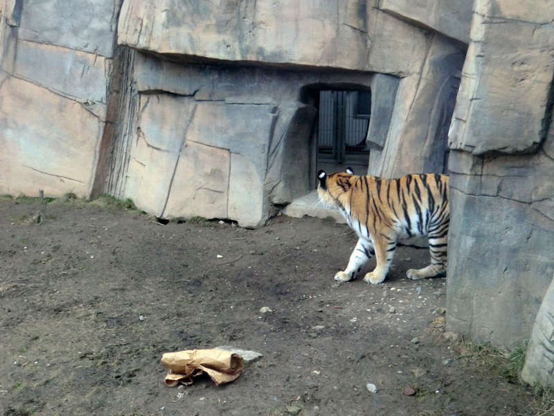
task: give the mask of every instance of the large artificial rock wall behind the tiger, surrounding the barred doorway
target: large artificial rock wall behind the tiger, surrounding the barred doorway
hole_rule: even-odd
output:
[[[373,91],[371,173],[443,171],[471,7],[431,3],[0,0],[0,193],[257,227],[313,187],[333,88]]]

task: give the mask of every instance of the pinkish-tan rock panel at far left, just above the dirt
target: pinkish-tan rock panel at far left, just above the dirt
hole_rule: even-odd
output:
[[[0,193],[89,196],[102,127],[80,103],[8,78],[0,86]]]

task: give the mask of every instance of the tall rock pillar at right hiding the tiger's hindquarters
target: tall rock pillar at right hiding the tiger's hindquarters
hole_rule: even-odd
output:
[[[554,58],[539,53],[554,26],[512,6],[475,3],[450,132],[447,272],[447,330],[510,347],[528,339],[554,273]]]

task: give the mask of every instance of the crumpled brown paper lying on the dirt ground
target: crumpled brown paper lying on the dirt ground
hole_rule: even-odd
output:
[[[240,376],[244,367],[242,356],[221,349],[188,349],[166,352],[161,364],[170,370],[166,384],[170,387],[193,383],[193,378],[208,374],[215,384],[229,383]]]

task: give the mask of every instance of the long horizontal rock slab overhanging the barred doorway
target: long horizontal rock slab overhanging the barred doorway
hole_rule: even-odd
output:
[[[425,53],[424,33],[377,0],[127,0],[118,32],[120,44],[162,54],[385,73],[418,72]]]

